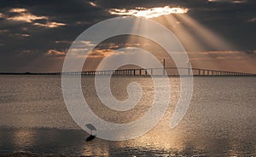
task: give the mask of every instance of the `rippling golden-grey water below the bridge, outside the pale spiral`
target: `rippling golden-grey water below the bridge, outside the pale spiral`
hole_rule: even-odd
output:
[[[188,113],[175,129],[169,127],[179,98],[179,78],[170,78],[172,98],[165,116],[151,131],[129,141],[96,138],[73,122],[61,94],[60,76],[0,76],[0,154],[112,156],[256,156],[255,77],[199,77]],[[96,97],[91,77],[82,78],[84,97],[100,117],[115,123],[139,119],[150,108],[150,78],[117,77],[113,96],[125,100],[126,85],[137,81],[143,98],[122,114],[106,110]],[[102,112],[104,111],[104,112]]]

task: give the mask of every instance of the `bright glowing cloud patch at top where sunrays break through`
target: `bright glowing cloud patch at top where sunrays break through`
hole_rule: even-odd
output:
[[[171,8],[170,6],[165,6],[151,9],[140,7],[137,7],[136,9],[110,9],[109,13],[111,15],[132,15],[137,17],[155,18],[161,15],[185,14],[188,11],[189,9],[183,9],[178,7]]]

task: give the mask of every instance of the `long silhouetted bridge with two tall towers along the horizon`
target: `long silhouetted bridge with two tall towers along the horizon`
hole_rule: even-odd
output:
[[[171,70],[176,72],[172,73]],[[115,75],[115,76],[148,76],[148,75],[168,75],[178,76],[177,70],[183,71],[183,76],[252,76],[255,73],[242,73],[221,70],[211,70],[188,67],[166,67],[166,68],[132,68],[102,71],[66,72],[66,73],[0,73],[0,74],[23,74],[23,75]]]

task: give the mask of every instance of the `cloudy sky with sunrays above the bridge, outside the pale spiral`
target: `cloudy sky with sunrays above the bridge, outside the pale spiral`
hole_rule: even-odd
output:
[[[0,72],[61,72],[80,33],[123,15],[166,26],[183,44],[192,67],[256,73],[253,0],[2,0]],[[148,39],[122,36],[98,45],[84,68],[93,69],[103,57],[116,55],[113,50],[129,46],[165,57],[165,50]],[[173,66],[171,59],[166,64]]]

